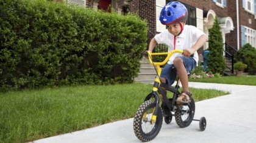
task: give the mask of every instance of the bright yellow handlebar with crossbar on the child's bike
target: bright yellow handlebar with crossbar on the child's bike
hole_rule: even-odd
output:
[[[147,51],[147,52],[148,52],[148,56],[149,56],[149,62],[151,64],[153,64],[152,56],[154,56],[154,55],[167,55],[163,62],[154,62],[154,65],[165,65],[168,62],[169,58],[171,57],[171,55],[173,53],[181,53],[182,54],[183,50],[176,49],[176,50],[172,50],[172,52],[165,52],[165,53],[151,53],[149,51]]]

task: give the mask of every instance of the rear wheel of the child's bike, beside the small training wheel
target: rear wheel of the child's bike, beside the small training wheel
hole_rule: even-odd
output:
[[[177,111],[175,112],[175,120],[179,127],[188,127],[194,118],[194,111],[196,110],[196,105],[194,104],[194,99],[191,98],[191,102],[184,105],[177,105]]]

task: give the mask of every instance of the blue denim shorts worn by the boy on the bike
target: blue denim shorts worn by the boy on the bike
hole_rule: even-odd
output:
[[[179,58],[183,59],[183,63],[185,65],[185,68],[187,69],[187,73],[190,74],[191,71],[196,67],[196,61],[192,57],[185,57],[180,56]],[[173,64],[166,64],[165,67],[163,67],[160,77],[165,78],[167,81],[167,84],[171,86],[177,76],[177,71]]]

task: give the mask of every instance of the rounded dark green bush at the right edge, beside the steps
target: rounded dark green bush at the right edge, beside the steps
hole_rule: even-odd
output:
[[[250,44],[245,44],[238,50],[236,61],[241,61],[247,64],[247,70],[250,75],[256,75],[256,49]]]

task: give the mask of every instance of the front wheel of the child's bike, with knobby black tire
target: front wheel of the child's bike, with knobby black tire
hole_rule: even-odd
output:
[[[157,111],[157,118],[152,121],[152,115],[155,110],[155,101],[145,101],[137,110],[133,119],[133,130],[135,135],[140,141],[147,142],[151,141],[158,135],[162,123],[163,113],[159,106]]]

